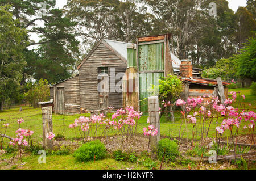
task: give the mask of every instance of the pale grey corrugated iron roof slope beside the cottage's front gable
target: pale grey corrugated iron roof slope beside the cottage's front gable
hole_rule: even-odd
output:
[[[122,41],[115,41],[115,40],[108,40],[108,39],[103,39],[106,43],[110,45],[115,51],[117,51],[125,60],[127,61],[128,59],[128,54],[127,54],[127,45],[136,45],[133,43],[125,43]]]

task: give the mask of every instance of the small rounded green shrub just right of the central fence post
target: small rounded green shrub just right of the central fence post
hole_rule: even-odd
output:
[[[165,149],[165,153],[164,153]],[[179,155],[178,145],[175,141],[171,141],[168,138],[162,139],[158,143],[158,158],[165,161],[174,161]]]

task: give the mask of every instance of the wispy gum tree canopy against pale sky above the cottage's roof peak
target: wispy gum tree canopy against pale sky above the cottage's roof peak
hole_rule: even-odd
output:
[[[86,47],[93,47],[101,38],[135,42],[148,35],[154,16],[138,1],[68,1],[68,17],[81,28],[76,30]],[[97,23],[96,23],[97,22]],[[87,30],[87,31],[84,31]]]

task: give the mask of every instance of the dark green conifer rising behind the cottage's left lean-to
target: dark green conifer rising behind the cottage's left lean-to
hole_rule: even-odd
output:
[[[44,36],[41,41],[46,42],[38,48],[38,59],[30,62],[34,70],[33,77],[47,79],[49,83],[63,81],[72,77],[72,73],[79,61],[79,41],[71,33],[76,22],[65,17],[62,10],[52,9],[46,18]]]

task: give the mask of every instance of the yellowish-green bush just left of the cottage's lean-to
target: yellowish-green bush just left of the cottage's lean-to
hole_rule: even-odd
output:
[[[34,86],[25,94],[26,99],[36,107],[38,102],[46,101],[49,99],[50,90],[47,80],[40,79]]]

